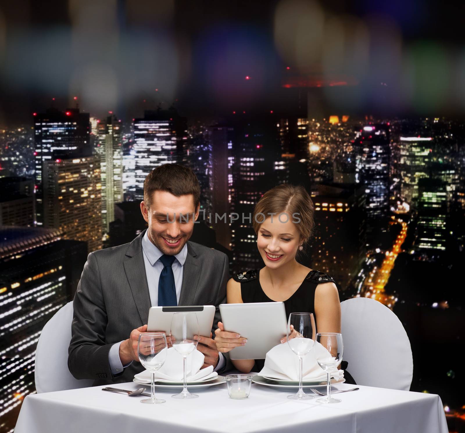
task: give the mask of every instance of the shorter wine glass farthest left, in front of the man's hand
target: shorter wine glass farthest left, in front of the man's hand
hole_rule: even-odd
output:
[[[167,351],[165,333],[145,332],[139,334],[137,354],[140,363],[146,370],[150,371],[151,376],[151,396],[149,399],[140,400],[141,403],[165,403],[166,400],[155,398],[155,372],[165,363]]]

